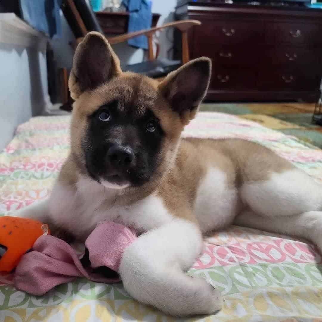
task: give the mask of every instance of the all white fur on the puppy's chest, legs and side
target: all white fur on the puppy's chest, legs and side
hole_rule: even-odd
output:
[[[39,218],[72,229],[85,239],[109,219],[143,233],[124,251],[120,274],[125,289],[142,303],[175,316],[213,313],[221,298],[203,279],[184,274],[202,250],[198,227],[173,218],[163,200],[149,195],[129,206],[115,206],[122,189],[110,189],[88,178],[75,188],[57,183],[49,201],[24,208],[18,216]],[[237,214],[239,197],[248,209],[235,223],[305,237],[322,250],[322,186],[300,170],[272,174],[262,182],[244,183],[237,192],[226,176],[210,168],[197,190],[195,212],[203,231],[223,227]]]

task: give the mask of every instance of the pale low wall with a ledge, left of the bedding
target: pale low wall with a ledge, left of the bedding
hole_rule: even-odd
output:
[[[21,29],[18,27],[15,29],[1,22],[0,150],[12,139],[19,124],[31,116],[42,114],[46,105],[50,104],[45,46],[35,46],[37,37],[33,31],[32,34],[25,30],[19,33]],[[5,30],[2,30],[2,26],[5,26]],[[15,43],[8,43],[11,41]],[[24,46],[17,45],[20,42]]]

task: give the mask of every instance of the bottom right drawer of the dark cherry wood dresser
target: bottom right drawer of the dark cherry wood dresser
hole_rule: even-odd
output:
[[[273,66],[258,72],[258,84],[265,90],[318,90],[319,71],[314,68]]]

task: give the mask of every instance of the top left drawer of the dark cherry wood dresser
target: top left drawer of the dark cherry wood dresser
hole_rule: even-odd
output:
[[[264,35],[264,25],[261,22],[203,20],[200,26],[194,28],[194,48],[201,44],[257,43]]]

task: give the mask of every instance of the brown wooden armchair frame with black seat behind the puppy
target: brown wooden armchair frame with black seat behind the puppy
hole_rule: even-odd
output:
[[[88,30],[86,25],[84,24],[84,21],[79,13],[79,10],[77,10],[77,7],[75,6],[75,3],[73,0],[65,0],[65,5],[70,13],[73,16],[73,23],[78,25],[79,33],[81,34],[81,37],[76,38],[76,41],[72,43],[72,47],[76,49],[77,45],[81,42],[83,37],[92,30]],[[66,8],[65,8],[66,9]],[[92,19],[95,19],[95,16],[91,17]],[[68,21],[68,19],[67,19]],[[188,45],[188,30],[195,26],[200,25],[201,22],[198,20],[180,20],[175,22],[170,22],[167,24],[164,24],[160,27],[153,27],[146,30],[140,30],[133,33],[125,33],[122,35],[114,36],[114,37],[107,37],[109,43],[112,45],[117,43],[123,43],[127,41],[128,39],[134,38],[136,36],[140,35],[146,35],[148,40],[148,51],[147,51],[147,61],[139,62],[137,64],[132,65],[125,65],[121,64],[121,68],[123,71],[133,71],[136,73],[144,74],[152,78],[156,78],[158,80],[162,80],[169,72],[174,71],[178,67],[181,66],[181,64],[184,64],[189,61],[189,45]],[[159,42],[157,38],[155,37],[155,34],[157,31],[162,31],[165,28],[175,27],[178,30],[181,31],[181,39],[182,39],[182,57],[181,60],[169,60],[169,59],[162,59],[158,58],[159,55]],[[96,28],[97,30],[101,32],[100,28]],[[154,53],[153,50],[153,43],[156,45],[156,52]],[[63,83],[63,97],[64,97],[64,105],[61,107],[65,110],[71,110],[71,98],[69,96],[69,92],[67,90],[68,88],[68,77],[67,72],[63,71],[61,72],[61,81]]]

